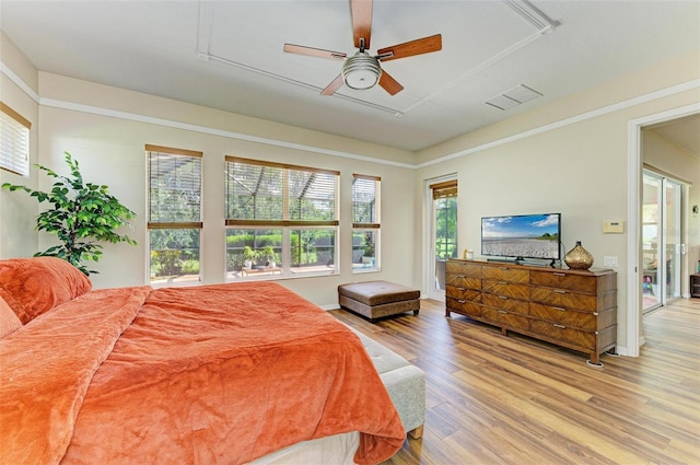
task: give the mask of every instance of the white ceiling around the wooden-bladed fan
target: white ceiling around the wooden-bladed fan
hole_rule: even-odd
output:
[[[416,151],[696,49],[700,1],[375,0],[371,54],[442,34],[382,63],[395,96],[322,96],[342,62],[282,50],[352,55],[348,0],[1,0],[0,25],[43,71]],[[518,84],[544,96],[485,104]]]

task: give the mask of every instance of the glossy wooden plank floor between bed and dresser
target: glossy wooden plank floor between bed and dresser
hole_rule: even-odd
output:
[[[645,316],[641,357],[603,368],[430,300],[375,325],[331,314],[425,372],[423,437],[385,464],[700,464],[700,299]]]

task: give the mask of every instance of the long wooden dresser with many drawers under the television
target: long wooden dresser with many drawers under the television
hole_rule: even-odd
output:
[[[591,354],[617,341],[617,272],[448,260],[445,316],[466,315]]]

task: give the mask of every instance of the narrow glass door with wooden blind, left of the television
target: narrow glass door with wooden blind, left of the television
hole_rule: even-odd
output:
[[[457,258],[457,179],[433,181],[428,189],[430,205],[429,283],[430,299],[445,300],[445,267]]]

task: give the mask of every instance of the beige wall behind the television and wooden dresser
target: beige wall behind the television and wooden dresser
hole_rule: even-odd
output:
[[[458,246],[475,249],[477,258],[481,217],[561,212],[567,251],[582,241],[594,267],[602,267],[605,256],[618,258],[618,344],[625,352],[627,288],[634,277],[628,269],[628,234],[637,226],[604,234],[603,222],[628,218],[634,188],[628,182],[628,124],[698,104],[699,56],[669,60],[420,152],[415,191],[423,205],[421,221],[428,211],[425,179],[448,173],[457,173],[459,183]],[[425,228],[416,229],[425,256]],[[422,267],[427,282],[428,264]]]

